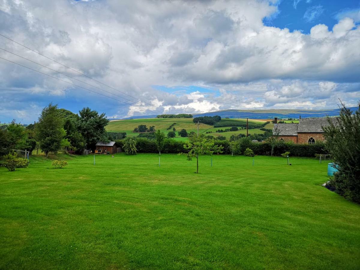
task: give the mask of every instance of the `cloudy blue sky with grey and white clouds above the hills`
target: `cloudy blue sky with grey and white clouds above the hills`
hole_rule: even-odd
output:
[[[359,0],[0,0],[0,34],[48,57],[0,36],[1,122],[360,99]]]

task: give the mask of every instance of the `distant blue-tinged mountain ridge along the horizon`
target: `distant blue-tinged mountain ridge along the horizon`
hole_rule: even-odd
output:
[[[356,107],[349,108],[352,111],[356,111]],[[271,119],[278,118],[299,118],[299,116],[305,117],[326,117],[326,116],[338,116],[340,109],[329,110],[297,110],[297,109],[263,109],[263,110],[222,110],[216,112],[207,113],[193,113],[194,117],[198,116],[215,116],[219,115],[221,118],[251,118],[251,119]],[[156,115],[146,116],[132,116],[123,119],[139,119],[139,118],[155,118]],[[116,119],[109,119],[116,120]]]

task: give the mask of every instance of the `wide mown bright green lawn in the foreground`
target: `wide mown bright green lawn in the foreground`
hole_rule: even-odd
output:
[[[0,269],[359,269],[360,206],[326,163],[158,157],[0,167]]]

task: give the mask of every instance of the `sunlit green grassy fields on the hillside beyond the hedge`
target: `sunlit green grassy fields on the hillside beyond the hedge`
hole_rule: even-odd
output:
[[[223,121],[223,120],[221,120]],[[243,125],[243,123],[246,123],[246,119],[224,119],[223,122],[219,122],[219,124],[221,123],[226,123],[229,124],[231,123],[237,123],[239,122],[241,125]],[[230,122],[229,122],[230,121]],[[249,120],[249,123],[264,123],[266,121],[264,120]],[[188,132],[196,132],[197,131],[197,125],[193,122],[193,118],[148,118],[148,119],[130,119],[130,120],[116,120],[116,121],[111,121],[107,126],[106,126],[106,130],[109,132],[126,132],[127,136],[137,136],[139,135],[138,132],[132,132],[134,130],[135,127],[139,126],[139,125],[146,125],[147,127],[150,126],[155,126],[155,129],[158,130],[160,129],[161,132],[164,132],[165,134],[167,134],[169,131],[172,131],[172,128],[170,130],[166,130],[172,123],[176,123],[174,125],[175,129],[176,129],[176,136],[179,137],[177,135],[177,131],[180,131],[181,129],[186,129],[186,131]],[[268,124],[268,125],[272,125],[272,124]],[[266,125],[266,126],[268,126]],[[222,129],[225,129],[227,127],[224,127]],[[265,127],[265,128],[269,128],[269,127]],[[199,132],[200,133],[206,133],[206,131],[209,130],[213,130],[213,132],[215,130],[217,130],[219,128],[214,129],[213,126],[210,125],[205,125],[205,124],[200,124],[199,125]],[[220,128],[221,129],[221,128]],[[272,129],[272,126],[271,126]],[[264,133],[264,131],[259,131],[258,129],[251,129],[249,130],[249,134],[253,134],[253,133]],[[232,134],[246,134],[243,133],[243,131],[234,131],[233,133],[231,133],[229,136],[224,135],[226,137],[229,137]],[[212,135],[212,134],[211,134]],[[216,134],[215,134],[216,135]],[[179,138],[178,140],[186,140],[186,139],[181,139]]]

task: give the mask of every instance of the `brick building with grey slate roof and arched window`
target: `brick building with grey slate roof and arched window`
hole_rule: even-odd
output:
[[[336,124],[337,118],[330,118]],[[299,123],[278,124],[275,118],[275,127],[279,130],[279,140],[293,141],[298,144],[313,144],[324,140],[323,127],[329,125],[327,118],[301,118]]]

